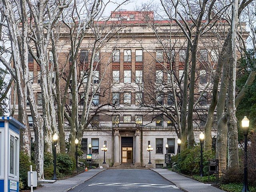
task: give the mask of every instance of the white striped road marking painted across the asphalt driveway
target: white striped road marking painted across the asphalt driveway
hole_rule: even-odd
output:
[[[156,187],[178,189],[175,185],[149,184],[149,183],[92,183],[88,186],[134,186],[134,187]]]

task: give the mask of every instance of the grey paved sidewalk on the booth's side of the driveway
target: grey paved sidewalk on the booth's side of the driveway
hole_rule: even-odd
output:
[[[90,169],[88,172],[82,172],[74,177],[70,177],[64,180],[57,180],[54,183],[42,184],[43,187],[34,190],[35,192],[67,192],[70,188],[73,188],[79,184],[82,184],[86,180],[92,178],[96,174],[104,171],[105,169]]]

